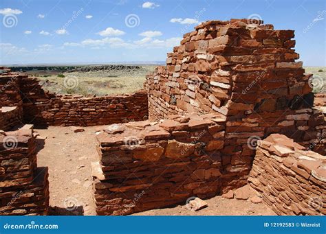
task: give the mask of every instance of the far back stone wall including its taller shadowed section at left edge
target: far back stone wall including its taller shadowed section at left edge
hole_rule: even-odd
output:
[[[133,94],[83,97],[48,93],[36,78],[18,73],[0,77],[2,106],[17,106],[16,119],[25,124],[52,126],[96,126],[148,117],[144,91]]]

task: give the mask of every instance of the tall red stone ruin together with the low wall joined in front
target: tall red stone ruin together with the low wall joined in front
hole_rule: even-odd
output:
[[[98,214],[126,215],[246,185],[257,141],[273,133],[325,155],[325,108],[314,106],[312,75],[295,61],[293,37],[247,19],[207,21],[185,34],[166,66],[146,77],[150,121],[109,126],[97,136]]]

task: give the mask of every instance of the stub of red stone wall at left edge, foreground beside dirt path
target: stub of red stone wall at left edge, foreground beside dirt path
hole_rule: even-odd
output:
[[[36,165],[30,129],[0,134],[0,215],[47,215],[47,167]]]

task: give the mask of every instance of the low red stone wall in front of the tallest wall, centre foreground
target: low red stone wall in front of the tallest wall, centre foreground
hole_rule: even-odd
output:
[[[221,154],[224,128],[225,119],[213,114],[109,126],[97,135],[98,215],[167,207],[245,185],[248,171]]]

